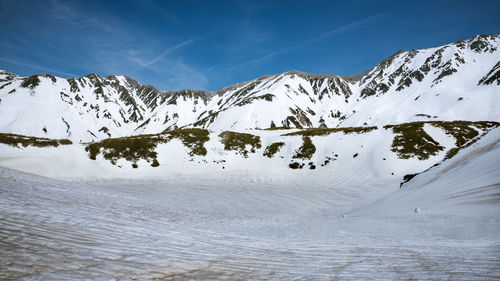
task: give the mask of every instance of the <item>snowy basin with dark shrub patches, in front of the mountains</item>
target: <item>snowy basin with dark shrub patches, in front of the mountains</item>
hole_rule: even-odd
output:
[[[204,136],[3,136],[0,279],[500,278],[495,122]]]

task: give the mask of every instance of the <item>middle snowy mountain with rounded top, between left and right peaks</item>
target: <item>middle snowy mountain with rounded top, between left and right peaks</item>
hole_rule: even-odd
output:
[[[289,71],[222,90],[212,114],[193,125],[213,130],[333,126],[345,117],[352,94],[339,76]]]

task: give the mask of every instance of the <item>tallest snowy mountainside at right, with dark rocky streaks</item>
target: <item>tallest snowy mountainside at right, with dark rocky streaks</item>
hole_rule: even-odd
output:
[[[364,75],[344,126],[413,120],[499,120],[500,37],[398,52]]]

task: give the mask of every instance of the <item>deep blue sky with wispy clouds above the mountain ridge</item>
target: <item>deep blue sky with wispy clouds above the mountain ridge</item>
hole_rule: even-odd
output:
[[[0,0],[0,68],[217,90],[363,72],[396,51],[500,33],[500,1]]]

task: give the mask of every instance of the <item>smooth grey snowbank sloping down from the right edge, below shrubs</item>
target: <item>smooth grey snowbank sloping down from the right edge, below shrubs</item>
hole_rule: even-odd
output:
[[[351,215],[393,215],[419,208],[425,214],[479,215],[498,221],[500,211],[500,129],[454,158],[415,176],[402,188]],[[484,230],[484,229],[483,229]],[[478,231],[465,229],[463,232]],[[496,229],[498,235],[499,229]]]

